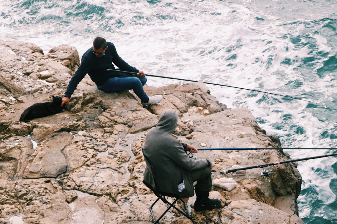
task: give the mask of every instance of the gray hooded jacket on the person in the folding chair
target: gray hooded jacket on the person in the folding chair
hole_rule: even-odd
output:
[[[179,194],[182,198],[194,195],[193,179],[190,170],[204,169],[209,162],[206,159],[194,160],[184,152],[178,139],[172,136],[178,124],[178,115],[174,110],[165,110],[157,125],[146,135],[144,155],[154,167],[157,190]],[[177,185],[184,180],[185,189],[178,191]],[[144,181],[153,187],[153,177],[145,169]]]

